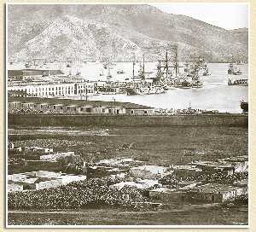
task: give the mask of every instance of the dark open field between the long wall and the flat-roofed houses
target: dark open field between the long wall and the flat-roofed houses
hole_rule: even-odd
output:
[[[247,139],[247,128],[217,126],[9,130],[9,140],[16,146],[74,151],[88,162],[133,157],[156,165],[244,155],[247,154]]]

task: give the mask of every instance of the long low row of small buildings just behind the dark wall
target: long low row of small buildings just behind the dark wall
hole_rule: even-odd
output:
[[[9,113],[150,115],[154,108],[128,102],[9,96]]]

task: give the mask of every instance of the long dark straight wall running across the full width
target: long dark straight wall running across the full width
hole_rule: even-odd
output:
[[[12,126],[238,126],[247,127],[246,114],[218,113],[172,116],[131,115],[9,115]]]

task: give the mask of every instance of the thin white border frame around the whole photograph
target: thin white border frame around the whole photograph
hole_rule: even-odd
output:
[[[71,229],[71,228],[83,228],[83,229],[248,229],[250,228],[251,225],[251,217],[250,217],[250,212],[251,212],[251,199],[250,197],[248,198],[248,224],[247,225],[9,225],[8,224],[8,6],[9,5],[31,5],[31,4],[37,4],[37,5],[113,5],[113,4],[119,4],[119,5],[126,5],[126,4],[159,4],[159,5],[172,5],[172,4],[236,4],[236,5],[247,5],[248,7],[248,79],[249,79],[249,85],[248,85],[248,103],[249,103],[249,112],[248,112],[248,163],[249,163],[249,172],[248,172],[248,192],[249,196],[252,195],[252,189],[251,189],[251,181],[250,181],[250,175],[252,171],[252,165],[251,165],[251,110],[252,106],[250,104],[251,102],[251,33],[250,33],[250,27],[251,27],[251,5],[250,3],[247,2],[241,2],[241,3],[232,3],[232,2],[226,2],[226,3],[218,3],[218,2],[201,2],[201,3],[191,3],[191,2],[186,2],[186,3],[180,3],[180,2],[166,2],[166,3],[158,3],[158,2],[142,2],[142,3],[119,3],[119,2],[112,2],[112,3],[104,3],[104,2],[96,2],[96,3],[86,3],[86,2],[81,2],[81,3],[6,3],[5,4],[5,227],[7,229],[11,228],[19,228],[19,229],[33,229],[33,228],[38,228],[38,229]]]

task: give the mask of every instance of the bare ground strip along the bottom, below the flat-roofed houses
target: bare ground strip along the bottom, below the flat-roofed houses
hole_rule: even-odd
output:
[[[247,206],[188,206],[165,212],[89,209],[76,212],[9,212],[9,224],[23,225],[247,225]]]

